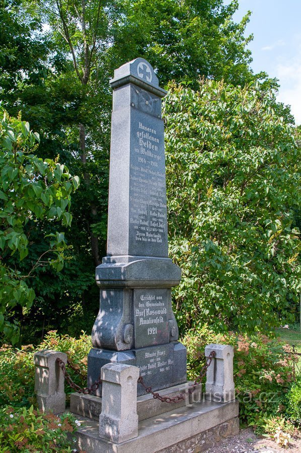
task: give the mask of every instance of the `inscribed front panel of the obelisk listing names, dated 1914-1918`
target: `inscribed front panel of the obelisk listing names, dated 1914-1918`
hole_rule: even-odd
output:
[[[163,121],[132,109],[129,244],[133,255],[168,256]]]

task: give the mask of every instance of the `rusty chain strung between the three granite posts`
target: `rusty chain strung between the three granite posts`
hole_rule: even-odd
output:
[[[208,358],[206,360],[206,363],[204,364],[204,366],[201,369],[200,374],[197,376],[197,378],[195,379],[194,383],[188,389],[188,393],[190,395],[200,385],[200,383],[201,383],[202,379],[204,378],[204,376],[206,374],[206,371],[209,368],[209,366],[210,366],[213,358],[215,357],[215,355],[216,355],[215,351],[211,351],[210,352],[210,354],[209,354],[209,356],[208,356]],[[61,370],[63,372],[65,381],[67,381],[67,383],[69,384],[71,389],[76,390],[78,393],[84,393],[84,395],[91,395],[92,393],[94,393],[100,387],[101,378],[99,377],[98,380],[95,381],[95,383],[93,383],[90,387],[81,388],[80,386],[78,386],[77,384],[75,384],[72,381],[70,374],[66,370],[66,366],[65,366],[65,363],[63,362],[63,360],[61,360],[60,358],[57,358],[56,362],[58,363],[58,366],[61,368]],[[70,368],[72,368],[77,374],[82,374],[79,371],[79,369],[74,367],[69,360],[67,361],[67,365],[70,366]],[[162,403],[179,403],[180,401],[183,401],[185,399],[185,395],[183,395],[182,393],[180,393],[179,395],[176,395],[174,397],[168,397],[168,396],[162,396],[158,392],[154,392],[152,390],[152,387],[147,387],[144,384],[142,376],[139,376],[137,382],[138,382],[138,384],[141,384],[141,386],[145,389],[145,392],[147,394],[149,394],[149,393],[152,394],[153,398],[155,400],[159,400]]]

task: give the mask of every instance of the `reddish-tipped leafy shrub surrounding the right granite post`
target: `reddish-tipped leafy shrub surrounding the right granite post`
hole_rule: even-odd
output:
[[[292,383],[290,347],[265,335],[214,334],[203,326],[184,338],[188,353],[188,378],[194,379],[204,364],[208,343],[234,346],[234,381],[240,403],[240,420],[263,432],[270,417],[285,411],[285,394]],[[283,414],[284,415],[284,414]]]

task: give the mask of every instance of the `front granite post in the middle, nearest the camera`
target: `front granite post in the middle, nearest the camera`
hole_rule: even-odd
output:
[[[138,436],[137,366],[108,363],[101,369],[99,436],[121,443]]]

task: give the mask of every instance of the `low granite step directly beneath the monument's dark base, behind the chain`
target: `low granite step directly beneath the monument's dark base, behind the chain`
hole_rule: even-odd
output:
[[[164,403],[159,399],[154,399],[153,395],[142,395],[137,398],[137,414],[139,421],[147,418],[155,417],[172,409],[175,410],[179,407],[191,404],[193,402],[200,402],[204,400],[205,395],[202,395],[202,386],[197,386],[196,390],[189,395],[188,388],[192,383],[186,383],[170,387],[160,391],[160,395],[169,398],[175,397],[179,394],[184,394],[185,399],[179,403]],[[70,411],[74,414],[82,415],[83,417],[99,420],[101,413],[102,398],[94,395],[81,395],[79,393],[72,393],[70,395]]]

